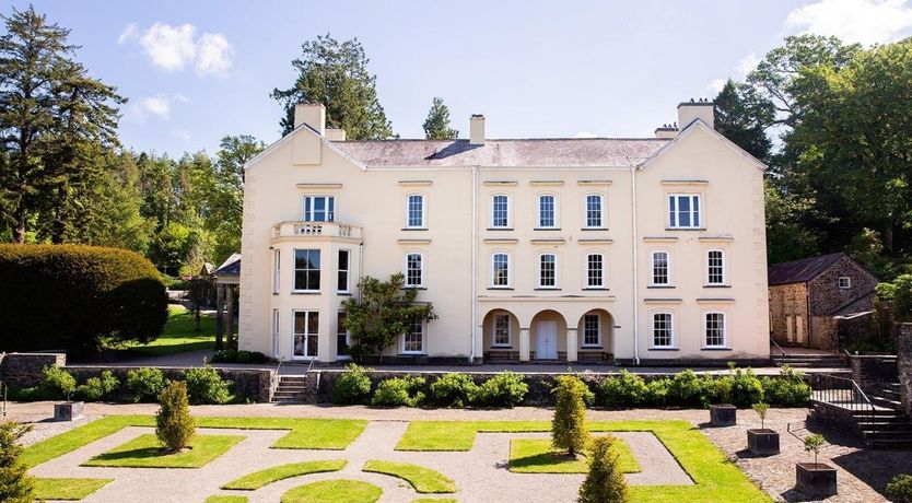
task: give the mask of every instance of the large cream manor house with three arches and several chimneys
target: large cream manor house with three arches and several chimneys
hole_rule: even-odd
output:
[[[321,105],[249,161],[241,349],[347,359],[342,302],[402,272],[439,319],[385,361],[769,360],[763,165],[678,106],[654,138],[346,141]]]

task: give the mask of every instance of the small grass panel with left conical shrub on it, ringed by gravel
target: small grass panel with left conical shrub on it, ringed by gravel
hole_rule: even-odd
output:
[[[234,444],[244,438],[239,435],[196,435],[190,441],[189,449],[166,454],[155,435],[140,435],[119,447],[93,457],[82,466],[199,468],[225,454]]]

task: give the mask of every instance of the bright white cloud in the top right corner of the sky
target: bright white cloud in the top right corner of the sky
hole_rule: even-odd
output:
[[[785,27],[846,43],[884,44],[912,33],[912,7],[909,0],[819,0],[790,12]]]

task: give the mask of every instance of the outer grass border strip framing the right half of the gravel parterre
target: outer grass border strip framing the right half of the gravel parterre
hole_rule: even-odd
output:
[[[687,421],[592,421],[592,432],[652,432],[693,479],[694,486],[632,487],[636,503],[770,502],[770,498]],[[479,432],[549,432],[549,421],[412,421],[397,451],[469,451]],[[473,432],[473,433],[472,433]]]

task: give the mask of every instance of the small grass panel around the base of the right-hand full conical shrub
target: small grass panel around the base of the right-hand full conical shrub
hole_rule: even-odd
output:
[[[613,446],[624,473],[643,471],[627,442],[618,438]],[[510,441],[510,471],[515,473],[585,473],[584,457],[569,459],[551,447],[551,438],[513,438]]]

